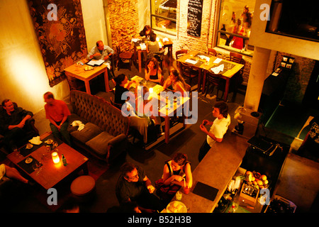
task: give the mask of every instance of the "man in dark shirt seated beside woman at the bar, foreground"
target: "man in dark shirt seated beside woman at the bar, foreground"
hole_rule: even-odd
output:
[[[142,212],[161,211],[163,207],[159,198],[152,194],[154,190],[141,167],[128,162],[121,166],[121,176],[116,183],[116,197],[120,204],[136,201]]]

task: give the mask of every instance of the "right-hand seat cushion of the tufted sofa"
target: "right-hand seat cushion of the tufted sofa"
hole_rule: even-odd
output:
[[[95,153],[99,155],[107,155],[108,141],[110,141],[113,138],[114,138],[113,135],[110,135],[106,131],[103,131],[103,133],[100,133],[96,137],[87,141],[85,144],[89,146],[89,148],[94,150]]]

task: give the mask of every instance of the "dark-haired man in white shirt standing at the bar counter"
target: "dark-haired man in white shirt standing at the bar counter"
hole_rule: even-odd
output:
[[[198,160],[201,162],[203,157],[208,153],[214,143],[220,143],[223,140],[223,136],[228,130],[230,125],[230,116],[228,114],[228,105],[224,101],[217,102],[213,107],[213,117],[216,117],[214,121],[203,120],[203,123],[199,126],[201,131],[207,134],[206,140],[199,150]],[[211,126],[211,129],[207,131],[206,125]]]

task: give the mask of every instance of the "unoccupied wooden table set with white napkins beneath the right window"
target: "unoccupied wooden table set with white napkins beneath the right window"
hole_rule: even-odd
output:
[[[198,58],[198,61],[196,64],[190,64],[186,62],[186,60],[196,60],[196,56],[198,55],[204,55],[206,57],[210,57],[210,60],[208,64],[206,64],[206,60],[203,60],[201,58]],[[212,67],[216,67],[218,65],[224,64],[224,70],[222,72],[222,77],[223,79],[226,80],[225,84],[225,92],[224,92],[224,101],[227,101],[227,96],[228,96],[228,91],[229,91],[229,85],[230,85],[230,79],[233,77],[234,74],[236,74],[244,65],[238,64],[236,62],[230,62],[228,60],[222,60],[219,64],[214,63],[214,61],[217,59],[217,57],[208,55],[206,53],[198,52],[198,51],[190,51],[186,53],[186,55],[180,57],[177,61],[183,62],[185,64],[192,65],[193,67],[198,68],[199,70],[203,70],[203,79],[201,78],[202,72],[200,71],[198,74],[198,87],[197,91],[198,92],[204,92],[205,91],[205,83],[206,83],[206,72],[208,70],[211,70]],[[228,69],[228,66],[231,67],[231,69]],[[201,89],[202,87],[202,89]]]

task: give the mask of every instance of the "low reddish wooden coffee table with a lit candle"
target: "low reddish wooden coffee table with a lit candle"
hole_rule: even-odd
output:
[[[43,164],[43,166],[40,167],[39,172],[38,170],[35,170],[31,173],[28,173],[26,170],[20,167],[20,165],[18,165],[19,162],[26,159],[26,157],[29,157],[30,155],[23,157],[22,155],[18,155],[16,152],[13,152],[7,157],[9,158],[9,160],[11,160],[11,162],[19,167],[19,169],[23,170],[23,172],[25,172],[29,177],[34,179],[35,182],[40,184],[45,189],[54,187],[57,183],[61,182],[62,179],[65,179],[65,177],[72,174],[72,172],[84,170],[84,174],[88,174],[87,161],[89,159],[84,155],[78,153],[77,150],[69,147],[69,145],[67,145],[66,143],[62,143],[56,148],[58,150],[60,162],[54,164],[52,161],[51,152],[47,153],[47,150],[45,148],[46,143],[45,140],[43,140],[48,135],[50,135],[50,133],[44,133],[43,135],[41,135],[40,140],[43,141],[42,146],[33,151],[33,153],[30,153],[30,155],[34,157],[35,160],[38,160]],[[45,156],[43,156],[43,154],[45,154]],[[67,159],[67,166],[62,164],[62,154],[65,155],[65,158]]]

